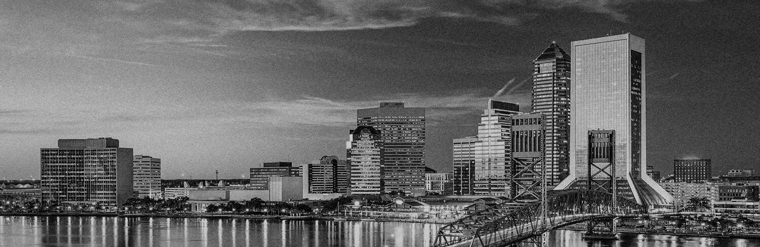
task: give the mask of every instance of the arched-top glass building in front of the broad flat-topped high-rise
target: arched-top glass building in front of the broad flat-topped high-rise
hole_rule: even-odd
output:
[[[380,131],[371,126],[352,130],[346,142],[351,194],[382,194],[384,147]],[[424,167],[423,167],[424,169]]]

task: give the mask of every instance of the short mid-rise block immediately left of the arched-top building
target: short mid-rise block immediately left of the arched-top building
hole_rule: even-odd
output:
[[[337,156],[323,156],[318,162],[302,166],[307,193],[346,193],[349,166]]]

